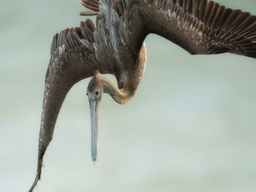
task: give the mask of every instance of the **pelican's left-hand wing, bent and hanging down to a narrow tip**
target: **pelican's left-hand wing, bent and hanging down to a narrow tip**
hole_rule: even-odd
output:
[[[94,38],[97,37],[97,39]],[[91,20],[80,23],[80,27],[67,28],[53,37],[50,51],[50,64],[45,77],[45,93],[42,107],[42,120],[39,133],[39,153],[37,177],[30,191],[33,191],[39,180],[42,169],[42,158],[51,139],[54,126],[64,101],[72,85],[91,77],[94,72],[112,73],[110,53],[107,45],[99,50],[99,41],[104,41],[100,31]],[[105,61],[101,62],[97,55],[102,51]]]

